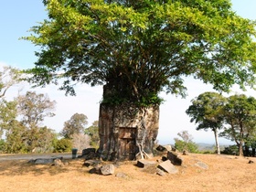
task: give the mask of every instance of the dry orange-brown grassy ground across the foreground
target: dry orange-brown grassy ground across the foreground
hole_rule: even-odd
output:
[[[256,191],[256,158],[229,155],[184,155],[185,165],[176,166],[175,175],[158,176],[136,166],[136,161],[123,162],[115,175],[90,174],[83,159],[69,159],[68,165],[31,165],[27,160],[0,161],[0,191]],[[1,156],[0,156],[1,158]],[[157,156],[154,160],[161,158]],[[252,160],[254,163],[249,164]],[[203,169],[195,165],[201,161]],[[127,177],[118,177],[124,173]]]

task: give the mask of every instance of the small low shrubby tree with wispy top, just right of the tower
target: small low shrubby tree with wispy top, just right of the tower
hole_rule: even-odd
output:
[[[178,151],[197,153],[198,146],[193,142],[193,136],[189,134],[187,131],[183,131],[177,133],[177,135],[181,138],[175,138],[175,147]]]

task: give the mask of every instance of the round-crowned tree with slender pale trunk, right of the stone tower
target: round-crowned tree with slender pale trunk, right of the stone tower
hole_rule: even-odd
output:
[[[192,100],[192,105],[187,109],[191,117],[190,122],[197,123],[197,130],[210,129],[214,133],[216,151],[220,154],[218,130],[223,127],[223,107],[226,98],[217,92],[204,92]]]

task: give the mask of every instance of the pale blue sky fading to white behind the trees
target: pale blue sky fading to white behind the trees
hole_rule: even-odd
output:
[[[255,0],[232,0],[233,10],[238,15],[250,19],[256,19]],[[41,0],[1,0],[0,6],[0,65],[11,65],[19,69],[32,68],[37,60],[34,45],[19,37],[29,36],[27,30],[37,26],[37,22],[47,18],[45,7]],[[165,103],[160,108],[160,128],[157,139],[160,144],[173,143],[177,133],[187,130],[196,142],[214,144],[214,136],[211,132],[196,131],[195,124],[189,123],[189,117],[185,113],[190,101],[204,91],[212,91],[210,86],[204,85],[197,80],[186,81],[188,97],[186,100],[172,95],[162,96]],[[89,125],[98,119],[99,101],[101,101],[101,87],[91,88],[88,85],[77,87],[76,97],[66,97],[64,92],[57,91],[57,87],[51,85],[44,89],[30,90],[27,84],[14,87],[7,92],[7,98],[12,99],[18,91],[37,91],[48,93],[51,100],[57,101],[56,116],[47,118],[44,122],[48,127],[59,132],[65,121],[75,113],[80,112],[88,116]],[[237,91],[237,89],[236,89]],[[255,95],[255,91],[249,94]],[[227,143],[220,139],[220,143]]]

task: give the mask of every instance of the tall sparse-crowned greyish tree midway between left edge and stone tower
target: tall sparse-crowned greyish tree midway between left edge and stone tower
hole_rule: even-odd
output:
[[[46,117],[52,117],[56,101],[50,101],[48,95],[27,91],[25,95],[16,98],[17,110],[21,118],[20,123],[26,127],[24,144],[28,152],[38,148],[48,148],[48,136],[53,138],[53,133],[47,127],[41,127]],[[49,141],[49,140],[48,140]],[[45,145],[42,145],[45,144]]]

